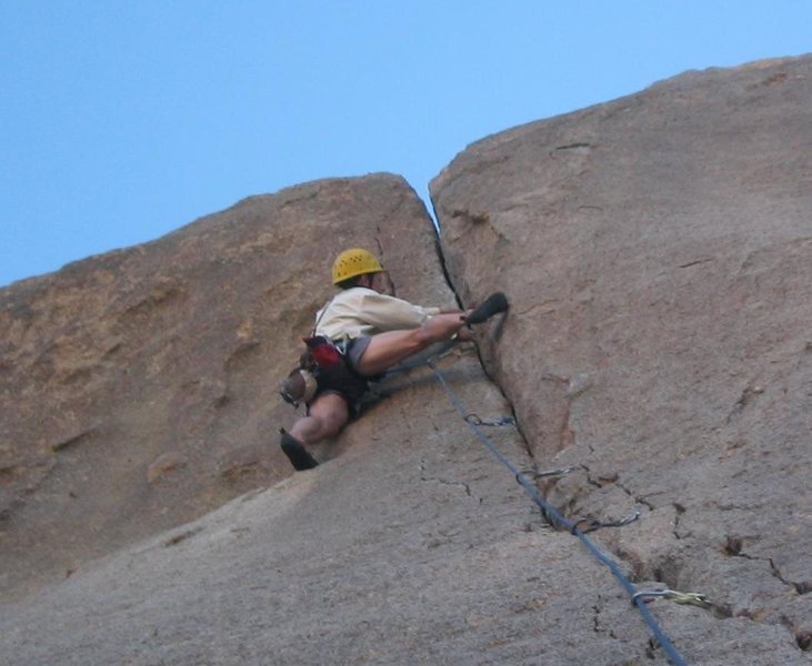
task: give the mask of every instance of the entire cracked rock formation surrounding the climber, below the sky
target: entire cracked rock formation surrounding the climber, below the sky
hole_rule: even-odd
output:
[[[666,663],[425,366],[291,475],[275,385],[358,245],[414,302],[511,296],[438,367],[519,468],[573,468],[539,481],[565,515],[640,513],[590,536],[706,595],[650,604],[688,663],[809,664],[810,77],[691,72],[475,143],[432,183],[440,260],[374,174],[0,290],[0,654]]]

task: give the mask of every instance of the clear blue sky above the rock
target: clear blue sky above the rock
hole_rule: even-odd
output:
[[[2,0],[0,285],[691,69],[812,52],[809,0]]]

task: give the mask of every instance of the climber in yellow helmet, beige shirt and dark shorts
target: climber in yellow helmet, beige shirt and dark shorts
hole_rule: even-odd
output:
[[[319,464],[307,446],[341,431],[357,413],[370,381],[435,342],[471,340],[467,324],[482,323],[508,307],[502,293],[477,311],[413,305],[394,295],[389,273],[371,252],[359,248],[339,254],[332,282],[341,291],[317,313],[309,341],[338,347],[339,372],[317,371],[318,383],[304,397],[305,416],[290,432],[281,430],[280,445],[295,470]]]

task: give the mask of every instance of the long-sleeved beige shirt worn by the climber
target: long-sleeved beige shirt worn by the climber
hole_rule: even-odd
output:
[[[421,307],[365,286],[353,286],[337,294],[317,313],[315,334],[347,340],[384,331],[419,329],[439,312],[439,307]]]

